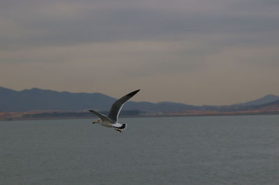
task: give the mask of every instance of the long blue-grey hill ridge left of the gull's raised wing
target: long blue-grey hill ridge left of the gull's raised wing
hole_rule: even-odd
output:
[[[39,88],[15,91],[0,88],[0,111],[107,110],[114,100],[101,93],[68,93]]]

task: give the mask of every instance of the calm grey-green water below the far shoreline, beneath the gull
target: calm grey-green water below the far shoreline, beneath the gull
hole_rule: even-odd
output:
[[[0,122],[0,184],[279,184],[279,115]]]

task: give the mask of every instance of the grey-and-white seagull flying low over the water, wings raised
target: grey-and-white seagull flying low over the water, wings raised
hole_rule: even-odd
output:
[[[132,93],[129,93],[128,95],[125,95],[125,96],[121,97],[120,99],[117,99],[116,102],[114,102],[114,104],[112,104],[112,108],[110,108],[109,115],[103,115],[96,111],[89,110],[91,113],[93,113],[99,117],[96,121],[92,122],[92,124],[100,123],[101,125],[103,125],[105,127],[112,127],[116,131],[119,131],[119,132],[123,131],[123,129],[126,128],[126,124],[121,124],[121,123],[117,122],[119,113],[123,107],[123,104],[125,104],[128,101],[128,99],[133,97],[139,91],[140,91],[140,89],[135,90]]]

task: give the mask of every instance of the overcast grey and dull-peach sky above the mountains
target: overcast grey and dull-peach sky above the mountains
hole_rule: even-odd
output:
[[[227,105],[279,95],[278,0],[1,0],[0,86]]]

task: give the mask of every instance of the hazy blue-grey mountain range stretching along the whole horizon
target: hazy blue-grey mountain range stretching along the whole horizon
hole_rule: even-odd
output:
[[[11,90],[0,87],[0,112],[20,111],[108,111],[116,99],[102,93],[69,93],[55,90],[31,88]],[[183,111],[238,111],[279,104],[279,96],[266,95],[260,99],[229,106],[194,106],[174,102],[133,102],[129,101],[125,110],[144,112],[183,112]]]

